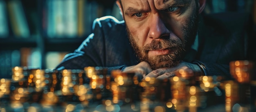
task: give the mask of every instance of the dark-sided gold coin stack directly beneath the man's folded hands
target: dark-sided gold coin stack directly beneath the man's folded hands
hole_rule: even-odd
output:
[[[141,92],[141,112],[165,111],[165,103],[171,98],[170,82],[168,78],[157,79],[153,77],[144,78],[139,85],[143,87]],[[161,111],[160,111],[161,110]]]

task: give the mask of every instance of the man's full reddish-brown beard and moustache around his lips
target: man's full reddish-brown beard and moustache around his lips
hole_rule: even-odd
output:
[[[198,11],[198,10],[196,10]],[[184,58],[184,54],[187,49],[191,48],[191,45],[194,43],[195,36],[198,29],[198,13],[195,13],[190,18],[184,22],[184,41],[177,39],[173,40],[170,37],[162,37],[160,40],[152,40],[151,43],[144,45],[142,48],[139,48],[135,38],[130,34],[130,31],[127,29],[130,43],[133,49],[136,52],[139,61],[146,61],[150,64],[151,69],[155,70],[162,67],[174,67],[180,63]],[[127,26],[127,25],[126,25]],[[139,37],[137,37],[139,38]],[[154,57],[148,56],[148,51],[157,50],[157,49],[171,49],[171,54],[166,55],[157,55]]]

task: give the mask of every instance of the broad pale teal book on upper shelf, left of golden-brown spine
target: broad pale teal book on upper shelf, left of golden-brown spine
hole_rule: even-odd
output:
[[[47,16],[49,38],[74,38],[77,36],[77,0],[47,0],[44,14]]]

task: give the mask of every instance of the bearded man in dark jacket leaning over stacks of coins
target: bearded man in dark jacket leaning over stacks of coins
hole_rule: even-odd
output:
[[[109,73],[121,69],[163,79],[184,69],[194,75],[231,78],[229,62],[255,59],[248,45],[246,15],[202,15],[206,0],[116,3],[124,20],[112,16],[94,20],[92,34],[65,56],[57,70],[101,66]]]

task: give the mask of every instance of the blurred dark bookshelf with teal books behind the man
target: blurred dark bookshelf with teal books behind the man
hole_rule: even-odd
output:
[[[207,0],[204,13],[255,16],[255,7],[255,0]],[[0,0],[0,78],[14,66],[53,69],[91,33],[93,20],[107,15],[122,20],[115,0]]]

